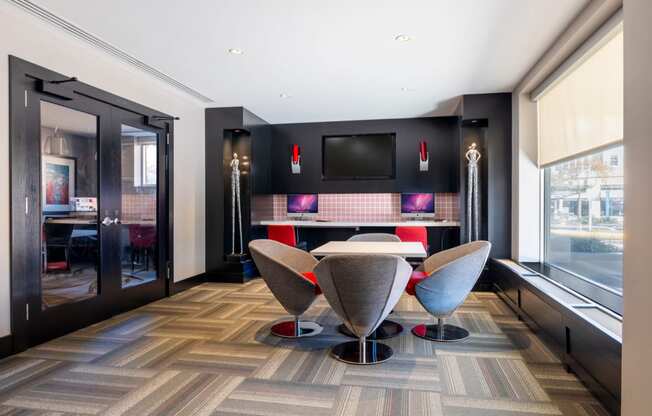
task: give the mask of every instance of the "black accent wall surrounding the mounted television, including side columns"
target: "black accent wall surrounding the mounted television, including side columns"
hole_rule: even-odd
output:
[[[394,179],[322,179],[322,136],[373,133],[396,134]],[[225,177],[229,174],[225,164],[230,156],[224,154],[224,149],[234,138],[238,146],[244,146],[239,152],[251,156],[250,176],[243,180],[246,183],[243,198],[288,193],[453,192],[460,197],[461,231],[465,227],[464,153],[470,141],[477,140],[483,153],[481,238],[492,242],[492,257],[510,257],[512,132],[509,93],[465,95],[460,116],[449,117],[270,125],[243,107],[207,109],[206,271],[209,276],[218,278],[225,273],[224,255],[230,249],[227,245],[230,245],[231,233],[230,212],[225,212],[230,211],[230,190],[225,189],[230,186]],[[427,172],[419,171],[421,140],[428,143],[430,169]],[[292,144],[301,148],[302,165],[298,175],[292,174],[290,168]],[[229,200],[225,201],[225,197]],[[249,200],[243,201],[243,206],[248,207],[249,203]],[[261,237],[260,230],[250,229],[249,214],[243,213],[244,234]],[[324,236],[312,236],[310,240],[322,241],[320,237]],[[463,233],[454,237],[447,235],[445,240],[464,242],[463,236]],[[439,246],[441,244],[435,244]]]

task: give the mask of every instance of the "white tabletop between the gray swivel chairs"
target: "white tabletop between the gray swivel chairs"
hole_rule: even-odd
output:
[[[421,243],[390,241],[330,241],[310,253],[315,257],[333,254],[393,254],[401,257],[428,257]]]

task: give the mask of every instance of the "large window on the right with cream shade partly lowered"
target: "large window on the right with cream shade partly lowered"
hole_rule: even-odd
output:
[[[543,273],[618,313],[623,290],[623,25],[610,20],[536,96]]]

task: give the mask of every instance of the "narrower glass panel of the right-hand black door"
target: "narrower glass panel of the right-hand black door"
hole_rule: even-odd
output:
[[[158,134],[121,125],[122,288],[158,277]]]

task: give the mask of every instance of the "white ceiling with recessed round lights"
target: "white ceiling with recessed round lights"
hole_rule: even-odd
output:
[[[511,91],[588,0],[33,2],[210,107],[284,123],[447,115],[462,94]]]

